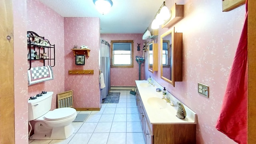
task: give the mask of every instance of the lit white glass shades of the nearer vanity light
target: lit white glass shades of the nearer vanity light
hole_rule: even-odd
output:
[[[162,6],[160,6],[159,10],[156,12],[154,20],[151,24],[152,29],[158,29],[159,25],[164,24],[166,20],[171,17],[171,12],[165,5],[165,1],[163,2]]]

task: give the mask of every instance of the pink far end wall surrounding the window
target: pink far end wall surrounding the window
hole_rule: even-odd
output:
[[[109,43],[111,40],[134,40],[134,62],[133,68],[110,68],[110,86],[136,86],[135,80],[139,80],[139,64],[136,61],[136,56],[142,56],[143,34],[100,34],[100,37]],[[140,44],[140,51],[137,51],[137,46]],[[141,64],[140,78],[144,78],[144,63]]]

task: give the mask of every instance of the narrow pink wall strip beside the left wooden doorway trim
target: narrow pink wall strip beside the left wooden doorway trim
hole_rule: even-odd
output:
[[[13,0],[15,142],[28,144],[26,0]]]

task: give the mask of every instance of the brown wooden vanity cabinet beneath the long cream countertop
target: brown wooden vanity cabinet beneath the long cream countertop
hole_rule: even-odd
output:
[[[151,124],[137,87],[136,99],[146,144],[196,144],[196,124]]]

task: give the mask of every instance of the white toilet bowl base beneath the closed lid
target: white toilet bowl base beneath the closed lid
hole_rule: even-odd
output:
[[[60,140],[67,139],[74,132],[72,123],[67,126],[50,128],[44,122],[36,122],[34,134],[30,136],[32,140]]]

